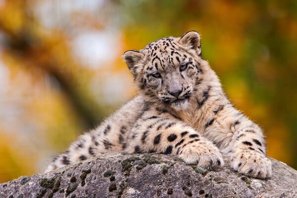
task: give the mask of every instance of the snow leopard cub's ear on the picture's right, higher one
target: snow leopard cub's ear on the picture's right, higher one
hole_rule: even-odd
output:
[[[197,54],[201,56],[201,43],[200,35],[196,31],[185,33],[179,40],[179,44],[183,45],[186,49],[194,49]]]

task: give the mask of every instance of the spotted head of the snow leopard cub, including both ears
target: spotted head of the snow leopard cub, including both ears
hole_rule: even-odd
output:
[[[124,58],[140,92],[149,101],[161,102],[175,110],[187,109],[201,79],[197,32],[160,39],[140,51],[126,51]]]

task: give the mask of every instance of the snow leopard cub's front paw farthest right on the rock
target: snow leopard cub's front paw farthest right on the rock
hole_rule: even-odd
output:
[[[271,177],[271,161],[259,152],[235,152],[231,156],[231,167],[246,176],[266,179]]]

